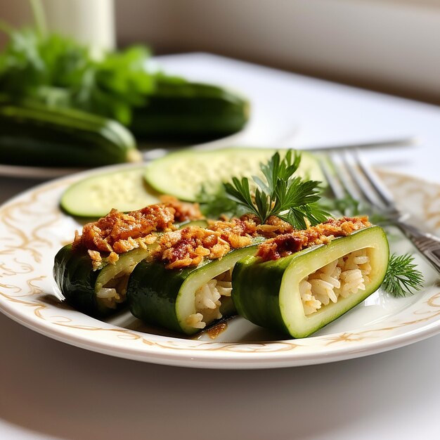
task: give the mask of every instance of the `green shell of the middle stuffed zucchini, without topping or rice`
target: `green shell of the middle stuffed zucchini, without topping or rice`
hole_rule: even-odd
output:
[[[222,296],[220,309],[196,308],[196,295],[214,278],[228,276],[236,261],[254,254],[256,245],[233,250],[221,259],[205,260],[195,267],[167,269],[162,261],[141,261],[129,278],[127,300],[131,313],[149,325],[186,335],[222,316],[235,314],[231,297]],[[202,324],[200,325],[200,316]]]

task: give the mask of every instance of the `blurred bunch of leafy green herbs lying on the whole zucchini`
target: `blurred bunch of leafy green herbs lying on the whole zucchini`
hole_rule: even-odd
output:
[[[37,29],[15,30],[0,23],[9,37],[0,54],[2,96],[79,108],[129,124],[132,108],[145,105],[156,87],[157,74],[145,68],[148,48],[133,46],[96,56],[77,41],[47,34],[41,10],[34,8],[34,13]]]

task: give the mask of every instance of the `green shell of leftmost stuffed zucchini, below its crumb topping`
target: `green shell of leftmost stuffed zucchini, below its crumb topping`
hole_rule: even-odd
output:
[[[53,278],[67,304],[90,316],[108,316],[124,304],[129,273],[152,248],[120,254],[115,264],[104,263],[93,270],[86,250],[72,250],[72,245],[67,245],[56,254]]]

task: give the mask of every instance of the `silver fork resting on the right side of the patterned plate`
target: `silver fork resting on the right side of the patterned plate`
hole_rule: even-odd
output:
[[[321,169],[336,198],[347,193],[354,200],[368,203],[390,223],[399,227],[415,247],[440,273],[440,238],[424,233],[407,223],[409,214],[403,213],[377,174],[361,160],[357,150],[343,150],[322,155]]]

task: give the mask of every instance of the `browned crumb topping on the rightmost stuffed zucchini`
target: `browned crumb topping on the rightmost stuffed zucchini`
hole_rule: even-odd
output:
[[[262,242],[258,247],[257,257],[261,257],[264,261],[287,257],[306,247],[325,245],[333,238],[344,237],[368,226],[371,224],[366,216],[329,219],[304,231],[295,230]]]

